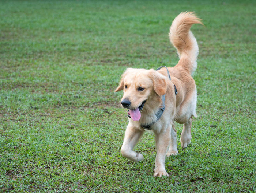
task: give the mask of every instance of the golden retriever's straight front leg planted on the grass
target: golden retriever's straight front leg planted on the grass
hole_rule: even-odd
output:
[[[168,146],[170,145],[170,132],[171,125],[167,129],[155,133],[155,142],[157,147],[157,156],[155,158],[155,174],[156,176],[169,176],[165,170],[165,155],[167,153]]]

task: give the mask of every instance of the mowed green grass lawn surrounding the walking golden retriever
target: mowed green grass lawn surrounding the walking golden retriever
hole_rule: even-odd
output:
[[[154,135],[120,154],[128,68],[174,66],[174,17],[195,11],[192,142],[154,178]],[[0,192],[256,192],[255,1],[1,1]],[[182,125],[177,124],[178,137]]]

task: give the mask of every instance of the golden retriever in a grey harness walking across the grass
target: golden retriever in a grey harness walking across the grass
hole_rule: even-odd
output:
[[[121,106],[128,109],[129,117],[121,154],[132,161],[142,161],[143,155],[133,148],[145,129],[152,129],[157,150],[154,177],[169,176],[165,157],[178,154],[174,121],[183,124],[181,147],[186,148],[191,142],[192,117],[197,117],[196,84],[191,75],[197,68],[199,53],[190,31],[193,24],[202,24],[201,19],[194,12],[182,12],[170,27],[170,42],[180,58],[176,66],[160,70],[127,68],[115,90],[123,90]]]

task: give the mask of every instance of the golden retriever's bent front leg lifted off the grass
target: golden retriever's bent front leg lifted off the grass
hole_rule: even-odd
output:
[[[143,160],[143,155],[133,151],[134,146],[139,141],[144,131],[133,127],[130,123],[128,124],[125,134],[124,143],[121,147],[121,154],[129,158],[132,161],[139,162]]]

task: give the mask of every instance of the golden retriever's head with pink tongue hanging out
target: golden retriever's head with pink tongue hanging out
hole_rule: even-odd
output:
[[[124,90],[121,105],[129,109],[129,115],[134,121],[138,121],[146,100],[152,95],[161,96],[166,93],[167,79],[153,69],[128,68],[121,76],[120,84],[115,92],[121,90]]]

